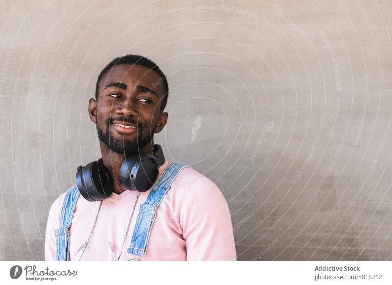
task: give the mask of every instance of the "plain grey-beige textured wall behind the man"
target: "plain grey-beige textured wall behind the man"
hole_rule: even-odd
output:
[[[44,259],[100,155],[98,73],[137,53],[169,77],[155,142],[219,186],[238,260],[392,260],[391,36],[389,0],[1,1],[0,259]]]

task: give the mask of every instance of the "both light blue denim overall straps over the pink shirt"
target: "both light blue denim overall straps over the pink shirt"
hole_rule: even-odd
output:
[[[161,203],[170,185],[177,177],[178,173],[188,165],[171,163],[166,167],[161,177],[155,183],[146,201],[140,204],[139,214],[136,220],[135,229],[128,248],[131,260],[137,260],[138,256],[143,256],[147,251],[148,239],[151,228],[155,220],[157,207]],[[74,186],[68,189],[65,194],[63,206],[60,213],[60,228],[55,230],[56,235],[56,261],[70,260],[70,232],[71,220],[75,211],[77,200],[80,196],[79,189]]]

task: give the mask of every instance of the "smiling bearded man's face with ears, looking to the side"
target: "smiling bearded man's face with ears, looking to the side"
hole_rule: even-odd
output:
[[[119,154],[148,152],[168,116],[160,111],[165,89],[159,75],[140,65],[118,65],[99,86],[98,100],[89,103],[99,139]]]

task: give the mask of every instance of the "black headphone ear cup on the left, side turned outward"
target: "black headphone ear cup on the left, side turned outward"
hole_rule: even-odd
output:
[[[113,181],[109,169],[103,160],[79,166],[76,173],[76,184],[80,194],[90,202],[102,201],[113,193]]]

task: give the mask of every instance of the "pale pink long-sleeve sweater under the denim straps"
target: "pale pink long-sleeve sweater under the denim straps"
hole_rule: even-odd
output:
[[[159,177],[171,163],[159,167]],[[120,260],[128,260],[129,247],[139,205],[144,203],[152,187],[140,194],[126,237]],[[90,243],[82,261],[113,261],[120,255],[137,192],[113,193],[103,200]],[[60,211],[65,193],[53,203],[45,232],[45,260],[54,261]],[[79,197],[70,228],[70,259],[79,260],[98,212],[100,202]],[[113,251],[109,245],[113,245]],[[147,253],[139,261],[235,261],[236,250],[230,211],[221,190],[193,168],[180,171],[157,208]]]

